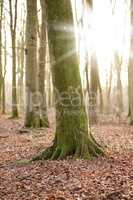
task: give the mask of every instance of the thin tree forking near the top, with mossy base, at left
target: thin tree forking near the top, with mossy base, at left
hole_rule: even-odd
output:
[[[9,0],[10,14],[10,32],[12,42],[12,118],[18,117],[17,108],[17,86],[16,86],[16,26],[17,26],[17,5],[18,0],[15,0],[14,15],[12,0]]]

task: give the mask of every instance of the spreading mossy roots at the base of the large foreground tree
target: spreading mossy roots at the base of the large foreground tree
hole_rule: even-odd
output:
[[[32,158],[32,161],[37,160],[63,160],[68,156],[73,156],[76,159],[86,159],[90,160],[93,157],[98,157],[99,155],[104,155],[104,151],[101,146],[97,145],[94,141],[88,139],[84,141],[83,144],[79,144],[73,148],[68,145],[56,145],[54,143],[51,147],[48,147],[39,155]]]

